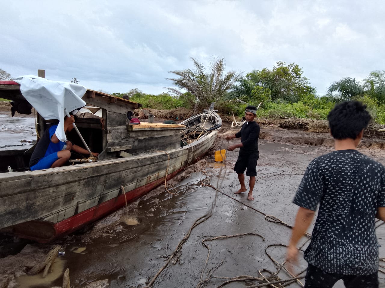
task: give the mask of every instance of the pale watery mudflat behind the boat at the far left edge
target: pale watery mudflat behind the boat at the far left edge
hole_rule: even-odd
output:
[[[13,149],[18,147],[28,149],[32,146],[32,141],[36,141],[33,117],[10,117],[8,114],[0,113],[1,150],[5,150],[9,146],[12,146]]]

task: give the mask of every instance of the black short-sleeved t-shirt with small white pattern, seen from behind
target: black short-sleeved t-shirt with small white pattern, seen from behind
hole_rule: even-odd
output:
[[[378,269],[377,207],[385,206],[385,168],[356,150],[317,157],[293,203],[315,211],[305,260],[328,273],[369,275]]]

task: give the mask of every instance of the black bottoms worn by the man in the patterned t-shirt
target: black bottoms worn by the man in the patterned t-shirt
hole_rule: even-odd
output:
[[[331,288],[340,279],[346,288],[378,288],[378,272],[370,275],[343,275],[326,273],[310,264],[305,276],[305,288]]]

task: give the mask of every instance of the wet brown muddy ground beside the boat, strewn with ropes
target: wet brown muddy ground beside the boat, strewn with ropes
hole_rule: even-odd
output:
[[[66,268],[70,269],[71,286],[74,288],[145,287],[166,264],[194,221],[210,212],[216,200],[212,216],[191,230],[180,250],[179,261],[169,263],[152,287],[196,287],[201,279],[208,277],[208,273],[222,277],[259,277],[261,272],[267,277],[269,273],[262,269],[274,272],[277,266],[273,260],[279,263],[284,261],[285,247],[281,245],[288,243],[291,230],[282,223],[269,222],[265,215],[273,215],[293,225],[298,207],[291,200],[303,172],[311,159],[332,151],[333,142],[328,134],[261,127],[255,200],[248,201],[245,193],[233,194],[239,185],[232,170],[238,149],[227,153],[224,164],[214,162],[214,151],[226,149],[239,141],[233,139],[228,143],[224,140],[226,134],[239,129],[229,126],[229,123],[224,123],[216,146],[200,163],[188,167],[168,182],[177,190],[177,195],[167,192],[164,186],[158,187],[129,204],[128,209],[118,210],[87,227],[88,230],[68,235],[49,245],[25,245],[23,240],[14,239],[25,248],[19,253],[15,250],[16,255],[0,259],[0,274],[14,278],[9,287],[17,284],[18,287],[61,286]],[[385,164],[384,142],[382,138],[363,139],[359,151]],[[380,257],[385,257],[384,227],[377,229],[378,241],[382,245]],[[207,240],[211,248],[209,257],[208,249],[202,244],[202,240],[209,237],[243,233],[260,236],[253,234]],[[9,242],[10,238],[7,240]],[[302,243],[305,242],[303,237]],[[49,279],[42,279],[41,275],[24,275],[57,244],[65,248],[65,255],[57,259]],[[295,268],[298,273],[306,268],[301,256],[299,266]],[[283,270],[278,277],[290,278]],[[379,273],[379,277],[380,287],[385,287],[385,274]],[[213,278],[204,287],[218,287],[224,281]],[[256,281],[241,281],[227,286],[248,287],[255,284]],[[287,287],[300,286],[293,283]],[[338,282],[335,287],[343,285]]]

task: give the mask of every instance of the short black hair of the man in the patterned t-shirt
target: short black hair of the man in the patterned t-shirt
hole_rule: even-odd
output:
[[[328,114],[331,135],[338,140],[357,139],[362,129],[368,127],[370,119],[366,105],[358,101],[336,104]]]

